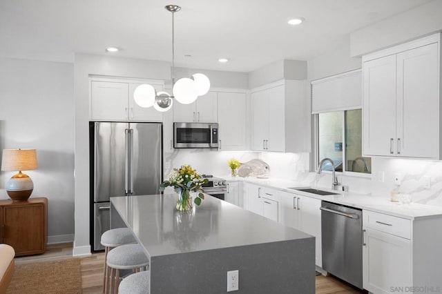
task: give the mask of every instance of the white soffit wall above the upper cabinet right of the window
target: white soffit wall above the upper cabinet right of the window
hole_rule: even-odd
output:
[[[434,0],[350,34],[351,56],[404,43],[442,29],[442,1]]]

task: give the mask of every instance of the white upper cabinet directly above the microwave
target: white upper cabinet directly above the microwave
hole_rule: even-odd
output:
[[[218,122],[218,93],[208,92],[191,104],[173,101],[173,121],[175,122]]]

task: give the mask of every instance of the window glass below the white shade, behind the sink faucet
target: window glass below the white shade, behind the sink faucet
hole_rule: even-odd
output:
[[[362,110],[318,114],[318,162],[332,159],[336,171],[372,173],[372,160],[362,156]],[[332,170],[325,161],[323,170]]]

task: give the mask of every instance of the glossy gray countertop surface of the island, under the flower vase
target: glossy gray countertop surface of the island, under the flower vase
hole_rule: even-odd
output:
[[[175,209],[174,194],[111,201],[151,257],[311,237],[209,195],[191,212]]]

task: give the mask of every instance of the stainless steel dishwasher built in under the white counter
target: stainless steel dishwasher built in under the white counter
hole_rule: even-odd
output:
[[[326,201],[320,210],[323,269],[362,289],[362,210]]]

